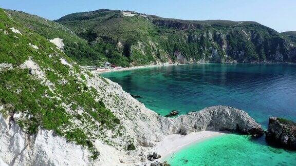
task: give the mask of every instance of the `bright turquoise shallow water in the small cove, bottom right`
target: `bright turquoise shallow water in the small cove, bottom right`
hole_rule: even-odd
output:
[[[168,161],[172,165],[295,165],[296,152],[231,134],[194,144],[168,157]]]

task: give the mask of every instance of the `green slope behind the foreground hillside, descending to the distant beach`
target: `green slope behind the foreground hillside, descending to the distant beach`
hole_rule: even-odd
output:
[[[6,12],[17,22],[47,39],[57,37],[63,39],[64,52],[81,65],[99,65],[98,62],[105,59],[103,53],[98,52],[86,40],[78,37],[61,24],[21,11],[6,10]]]

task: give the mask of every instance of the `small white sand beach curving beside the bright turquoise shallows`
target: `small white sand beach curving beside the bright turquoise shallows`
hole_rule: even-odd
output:
[[[172,134],[167,135],[161,142],[157,143],[154,151],[161,155],[158,161],[165,161],[177,151],[180,151],[186,147],[191,146],[197,142],[204,141],[206,139],[214,138],[224,135],[226,133],[214,132],[214,131],[200,131],[189,133],[188,135]]]

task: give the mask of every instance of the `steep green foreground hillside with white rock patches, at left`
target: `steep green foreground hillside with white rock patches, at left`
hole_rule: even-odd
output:
[[[113,144],[120,120],[106,108],[84,71],[47,38],[0,9],[0,112],[30,135],[53,130],[98,156],[94,140]],[[100,78],[103,79],[103,78]],[[108,133],[108,134],[106,134]],[[112,134],[110,134],[112,133]]]

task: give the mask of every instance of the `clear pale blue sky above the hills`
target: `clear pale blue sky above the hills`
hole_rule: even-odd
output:
[[[179,19],[253,20],[276,31],[296,31],[296,0],[1,0],[0,7],[48,19],[97,9],[132,10]]]

